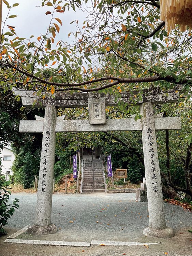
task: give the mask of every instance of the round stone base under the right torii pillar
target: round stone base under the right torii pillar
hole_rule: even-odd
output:
[[[173,228],[166,227],[165,229],[154,229],[146,227],[143,230],[143,234],[146,237],[158,237],[158,238],[171,238],[175,236]]]

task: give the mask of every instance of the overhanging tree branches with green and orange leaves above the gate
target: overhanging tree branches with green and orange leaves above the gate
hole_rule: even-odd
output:
[[[159,1],[42,0],[50,24],[37,39],[21,38],[14,22],[8,26],[18,3],[3,2],[9,12],[0,54],[0,84],[5,91],[14,86],[53,95],[55,91],[119,94],[136,89],[135,102],[144,88],[183,85],[181,96],[190,98],[192,35],[178,27],[165,31]],[[74,21],[77,31],[69,33],[74,43],[57,42],[65,12],[78,8],[88,16],[83,27]]]

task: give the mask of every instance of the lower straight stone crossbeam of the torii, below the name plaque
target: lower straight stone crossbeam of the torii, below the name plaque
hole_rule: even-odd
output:
[[[162,122],[163,119],[163,122]],[[165,125],[166,124],[166,125]],[[157,126],[157,127],[156,127]],[[180,117],[166,117],[155,119],[156,130],[181,129]],[[106,124],[89,124],[88,120],[56,120],[56,132],[81,131],[137,131],[142,130],[140,120],[107,119]],[[43,120],[20,121],[19,132],[43,132]]]

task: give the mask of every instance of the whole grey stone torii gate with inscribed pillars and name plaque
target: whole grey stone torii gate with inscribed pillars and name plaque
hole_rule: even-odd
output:
[[[38,195],[36,204],[35,224],[28,228],[29,233],[50,234],[57,232],[57,227],[51,224],[52,191],[55,161],[56,132],[82,131],[142,131],[145,176],[147,184],[149,227],[143,230],[145,236],[173,237],[174,230],[167,227],[163,205],[161,175],[159,168],[156,130],[181,129],[179,117],[163,118],[162,114],[154,114],[153,104],[175,102],[178,97],[174,90],[161,92],[159,89],[144,90],[140,105],[141,120],[106,119],[105,106],[117,106],[115,97],[98,93],[56,93],[53,98],[47,94],[40,98],[36,91],[14,89],[14,95],[20,95],[26,107],[45,108],[44,118],[35,116],[34,121],[20,121],[20,132],[43,133],[41,163],[39,172]],[[121,94],[128,104],[131,95]],[[64,120],[57,117],[57,107],[77,108],[89,107],[89,120]]]

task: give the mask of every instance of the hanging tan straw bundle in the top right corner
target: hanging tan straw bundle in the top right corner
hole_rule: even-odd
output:
[[[192,29],[192,0],[160,0],[161,20],[165,21],[165,30],[171,31],[175,24],[183,32],[189,26]]]

